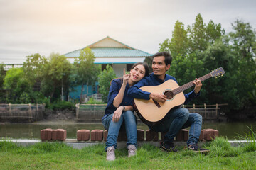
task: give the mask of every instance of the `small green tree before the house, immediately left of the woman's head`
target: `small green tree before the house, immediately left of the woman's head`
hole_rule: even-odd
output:
[[[102,94],[102,101],[107,103],[107,95],[110,90],[110,81],[116,77],[114,69],[107,64],[106,69],[99,75],[99,91]]]

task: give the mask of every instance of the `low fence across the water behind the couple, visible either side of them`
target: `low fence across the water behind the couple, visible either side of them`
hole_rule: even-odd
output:
[[[225,118],[225,113],[220,112],[220,106],[228,104],[215,105],[183,105],[188,108],[190,113],[199,113],[204,120],[218,120]],[[106,104],[77,104],[76,120],[78,121],[100,121],[104,115]]]

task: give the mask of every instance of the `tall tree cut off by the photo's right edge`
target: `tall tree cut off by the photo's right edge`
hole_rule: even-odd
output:
[[[255,51],[256,34],[250,23],[236,20],[232,23],[234,32],[229,33],[235,60],[238,62],[233,74],[236,77],[240,103],[238,109],[252,106],[251,98],[256,84]]]

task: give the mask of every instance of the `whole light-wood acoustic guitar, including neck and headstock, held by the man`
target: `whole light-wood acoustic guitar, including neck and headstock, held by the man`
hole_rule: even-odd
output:
[[[224,69],[220,67],[198,79],[204,81],[210,77],[217,77],[224,73]],[[176,81],[170,79],[159,86],[142,86],[139,89],[151,93],[164,94],[167,100],[164,103],[158,103],[152,99],[144,100],[134,98],[134,110],[142,122],[146,123],[146,125],[156,125],[163,120],[171,109],[178,108],[185,102],[183,91],[192,87],[193,85],[193,81],[190,81],[183,86],[178,86]]]

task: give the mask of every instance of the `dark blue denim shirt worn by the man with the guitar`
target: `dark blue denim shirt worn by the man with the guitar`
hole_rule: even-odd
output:
[[[177,82],[177,80],[166,74],[164,81],[172,79],[174,81]],[[142,86],[159,86],[160,84],[164,83],[163,80],[159,79],[158,77],[156,77],[154,75],[154,73],[149,74],[149,77],[144,77],[141,81],[139,81],[137,84],[135,84],[134,86],[130,87],[128,90],[128,95],[133,97],[133,98],[140,98],[140,99],[145,99],[145,100],[149,100],[149,95],[151,94],[150,92],[147,91],[142,91],[142,89],[139,89]],[[177,82],[178,83],[178,82]],[[196,98],[197,96],[200,95],[200,91],[198,94],[195,94],[195,91],[191,91],[188,94],[185,94],[185,103],[187,104],[190,101],[192,101],[193,98]]]

